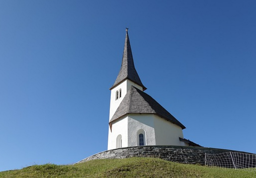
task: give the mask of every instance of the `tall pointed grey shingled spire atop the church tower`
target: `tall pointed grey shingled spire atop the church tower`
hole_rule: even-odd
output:
[[[129,79],[129,80],[133,81],[134,83],[138,84],[139,86],[142,86],[143,91],[147,89],[142,84],[142,82],[139,78],[139,75],[134,66],[133,57],[132,57],[132,53],[131,53],[130,40],[129,40],[129,36],[128,36],[128,28],[126,28],[125,47],[124,47],[121,69],[119,71],[119,74],[116,78],[114,85],[110,88],[110,90],[113,87],[117,86],[122,81],[124,81],[125,79]]]

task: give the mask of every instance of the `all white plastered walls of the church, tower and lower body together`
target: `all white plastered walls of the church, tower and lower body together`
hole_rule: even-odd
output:
[[[130,80],[125,80],[111,90],[109,121],[122,102],[131,86],[138,86]],[[121,97],[120,92],[121,91]],[[139,146],[139,135],[143,134],[143,145],[181,145],[184,142],[182,128],[155,114],[127,114],[112,123],[108,131],[108,150],[119,147]]]

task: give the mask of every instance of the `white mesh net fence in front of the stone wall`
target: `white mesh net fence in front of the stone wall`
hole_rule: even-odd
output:
[[[240,152],[225,152],[220,154],[205,153],[205,165],[222,168],[249,169],[256,171],[256,155]]]

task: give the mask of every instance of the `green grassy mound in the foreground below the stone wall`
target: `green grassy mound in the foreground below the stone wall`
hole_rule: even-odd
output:
[[[250,178],[256,171],[180,164],[156,158],[101,159],[75,165],[34,165],[0,172],[0,178],[175,177]]]

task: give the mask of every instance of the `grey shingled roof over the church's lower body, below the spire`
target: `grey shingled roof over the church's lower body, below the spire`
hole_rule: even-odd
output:
[[[109,122],[110,127],[112,128],[113,121],[126,114],[155,114],[180,126],[182,129],[186,128],[166,109],[157,103],[155,99],[134,86],[131,86],[119,107],[117,108],[115,114]]]

